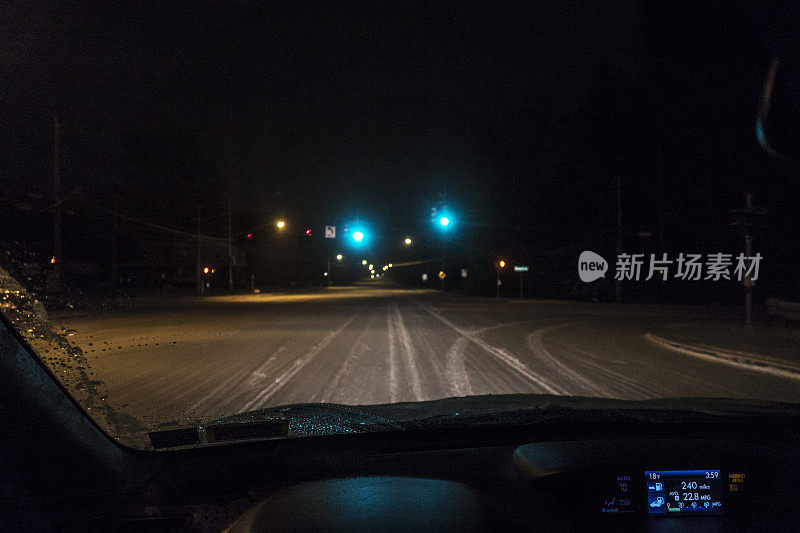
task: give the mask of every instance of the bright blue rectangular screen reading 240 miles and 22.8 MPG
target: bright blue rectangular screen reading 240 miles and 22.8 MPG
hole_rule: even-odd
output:
[[[722,512],[719,470],[647,470],[644,477],[649,514]]]

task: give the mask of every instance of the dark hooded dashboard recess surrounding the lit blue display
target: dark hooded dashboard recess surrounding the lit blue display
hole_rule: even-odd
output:
[[[798,490],[786,478],[796,461],[760,446],[701,439],[537,443],[517,448],[514,463],[533,487],[560,494],[573,511],[610,528],[730,530],[798,517]]]

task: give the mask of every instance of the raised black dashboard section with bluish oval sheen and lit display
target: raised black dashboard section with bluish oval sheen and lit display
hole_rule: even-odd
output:
[[[264,529],[797,530],[798,463],[732,440],[541,442],[362,458],[361,474],[270,492]],[[795,474],[791,474],[795,472]],[[340,473],[343,473],[340,471]]]

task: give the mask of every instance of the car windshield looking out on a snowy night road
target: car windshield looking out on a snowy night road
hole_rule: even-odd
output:
[[[509,394],[796,403],[779,18],[7,5],[3,327],[141,448]]]

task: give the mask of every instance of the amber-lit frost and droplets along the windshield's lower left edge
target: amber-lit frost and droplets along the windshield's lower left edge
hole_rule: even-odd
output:
[[[112,438],[137,447],[145,445],[146,429],[138,420],[109,405],[103,383],[95,379],[83,351],[69,340],[75,332],[54,326],[42,302],[3,268],[0,268],[0,314]]]

